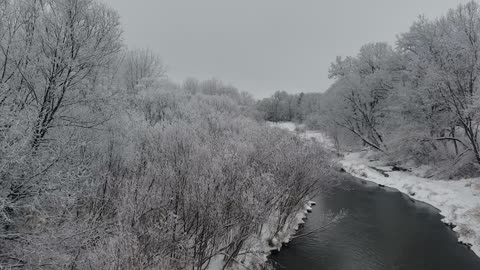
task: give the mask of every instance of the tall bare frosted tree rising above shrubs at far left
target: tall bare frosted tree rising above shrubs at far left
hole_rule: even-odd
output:
[[[11,110],[35,118],[37,148],[53,127],[88,127],[74,107],[106,96],[96,92],[101,70],[120,50],[118,15],[90,0],[5,2],[1,61]],[[13,107],[12,107],[13,106]]]

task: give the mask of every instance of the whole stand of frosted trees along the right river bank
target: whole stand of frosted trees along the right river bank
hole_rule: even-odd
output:
[[[372,43],[357,56],[338,57],[330,68],[334,84],[309,112],[317,120],[307,122],[333,137],[348,131],[356,138],[349,142],[397,160],[478,165],[479,56],[476,2],[435,20],[419,17],[395,47]]]

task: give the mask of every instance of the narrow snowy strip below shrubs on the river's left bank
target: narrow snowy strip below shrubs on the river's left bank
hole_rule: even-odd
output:
[[[244,244],[244,249],[235,258],[229,270],[264,269],[268,256],[273,250],[282,248],[283,244],[289,243],[301,224],[305,223],[307,213],[312,211],[313,201],[306,201],[303,207],[293,215],[286,224],[277,231],[278,213],[272,213],[269,220],[262,227],[260,235],[252,235]],[[206,270],[220,270],[225,266],[225,256],[217,255],[212,258]]]

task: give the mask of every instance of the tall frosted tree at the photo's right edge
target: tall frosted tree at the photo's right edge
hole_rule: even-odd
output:
[[[426,110],[435,117],[447,114],[433,139],[461,145],[463,154],[472,152],[480,163],[479,38],[480,7],[469,2],[434,21],[420,18],[400,37],[399,48]],[[456,136],[457,127],[465,139]]]

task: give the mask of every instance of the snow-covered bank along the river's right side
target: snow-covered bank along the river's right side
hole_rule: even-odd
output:
[[[271,125],[296,131],[293,123]],[[297,134],[314,138],[332,148],[332,143],[321,132],[306,131]],[[458,233],[459,241],[472,245],[472,250],[480,256],[480,178],[458,181],[422,178],[419,175],[423,175],[425,166],[408,168],[411,172],[392,171],[393,168],[386,166],[386,162],[373,161],[371,153],[368,152],[347,153],[339,163],[353,176],[398,189],[416,200],[438,208],[445,217],[443,222],[456,226],[454,231]]]

